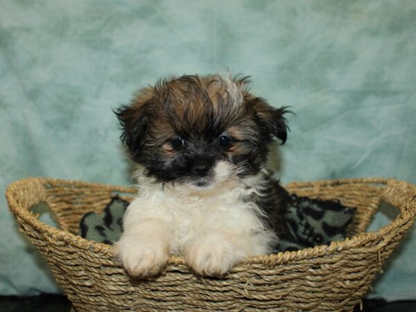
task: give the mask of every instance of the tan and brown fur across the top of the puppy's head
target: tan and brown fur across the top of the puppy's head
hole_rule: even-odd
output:
[[[268,109],[255,99],[248,92],[245,79],[218,74],[182,76],[141,89],[133,101],[129,120],[137,119],[144,110],[148,112],[153,142],[146,144],[162,145],[177,132],[203,133],[215,123],[235,139],[250,141],[256,133],[249,116],[255,110],[267,114]]]

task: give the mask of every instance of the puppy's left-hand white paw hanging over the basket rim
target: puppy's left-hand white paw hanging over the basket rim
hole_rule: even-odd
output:
[[[156,275],[168,260],[167,248],[153,243],[119,244],[114,251],[132,277]]]

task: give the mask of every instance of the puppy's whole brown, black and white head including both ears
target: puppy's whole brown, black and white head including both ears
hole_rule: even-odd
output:
[[[285,112],[250,94],[246,79],[219,75],[162,80],[116,110],[146,175],[195,189],[257,173],[272,136],[286,141]]]

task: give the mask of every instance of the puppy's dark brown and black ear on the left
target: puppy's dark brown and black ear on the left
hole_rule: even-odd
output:
[[[123,130],[120,139],[133,160],[139,155],[144,144],[149,105],[149,94],[142,90],[132,101],[132,104],[121,105],[118,109],[113,110],[119,119],[121,130]]]

